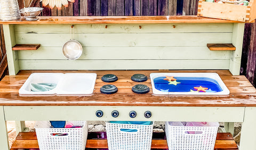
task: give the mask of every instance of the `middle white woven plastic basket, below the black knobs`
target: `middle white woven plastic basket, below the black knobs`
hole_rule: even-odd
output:
[[[106,121],[106,131],[109,150],[148,150],[151,148],[153,124],[122,124]],[[133,132],[121,131],[132,129]],[[137,131],[135,131],[137,130]]]

